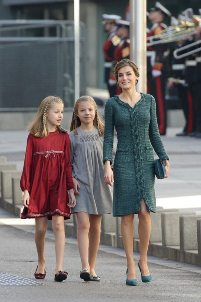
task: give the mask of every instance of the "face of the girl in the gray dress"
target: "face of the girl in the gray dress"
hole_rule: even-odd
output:
[[[89,101],[80,102],[78,104],[77,116],[81,124],[93,124],[95,118],[95,108],[93,104]]]

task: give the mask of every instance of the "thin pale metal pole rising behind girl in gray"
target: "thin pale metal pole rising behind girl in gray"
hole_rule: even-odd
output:
[[[79,0],[74,0],[74,38],[75,38],[75,102],[79,98]]]

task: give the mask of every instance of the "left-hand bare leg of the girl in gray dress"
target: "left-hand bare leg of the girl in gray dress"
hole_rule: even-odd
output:
[[[89,214],[86,212],[77,212],[77,242],[79,247],[80,259],[82,262],[82,270],[88,269],[90,271],[88,260],[89,247]]]

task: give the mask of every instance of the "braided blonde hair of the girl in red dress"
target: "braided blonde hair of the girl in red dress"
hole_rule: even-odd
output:
[[[36,118],[28,126],[27,131],[33,134],[35,137],[47,137],[49,134],[48,127],[46,126],[46,117],[50,107],[56,103],[62,104],[63,101],[57,96],[48,96],[42,100],[39,106]],[[59,132],[67,132],[60,125],[56,126],[56,130]]]

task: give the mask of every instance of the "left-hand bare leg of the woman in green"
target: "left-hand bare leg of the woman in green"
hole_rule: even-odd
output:
[[[135,262],[133,260],[133,219],[134,214],[122,216],[121,233],[127,258],[128,279],[136,279]]]

